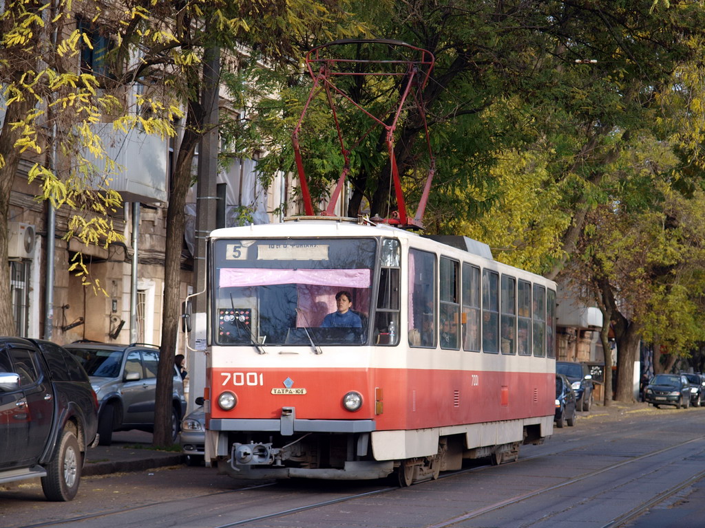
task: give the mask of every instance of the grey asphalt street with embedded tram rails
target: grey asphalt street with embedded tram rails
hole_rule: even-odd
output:
[[[518,463],[467,465],[435,482],[399,489],[388,481],[238,483],[207,467],[164,467],[83,479],[70,503],[44,501],[38,482],[0,492],[0,525],[150,527],[516,527],[664,526],[625,517],[663,498],[669,517],[705,474],[705,409],[623,413],[596,406]],[[683,484],[687,484],[685,487]],[[679,488],[679,486],[681,486]],[[678,489],[673,496],[669,491]],[[701,493],[701,492],[700,492]],[[625,524],[609,524],[626,519]],[[687,523],[686,523],[687,524]],[[683,524],[681,524],[683,525]]]

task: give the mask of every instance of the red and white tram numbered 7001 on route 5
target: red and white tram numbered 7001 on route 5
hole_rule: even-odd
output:
[[[409,485],[553,431],[556,286],[484,244],[294,218],[212,232],[209,263],[220,472]],[[323,325],[339,291],[360,327]]]

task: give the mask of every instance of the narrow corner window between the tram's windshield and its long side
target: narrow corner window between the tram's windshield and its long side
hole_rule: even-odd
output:
[[[380,345],[399,342],[399,241],[382,241],[381,268],[374,330]]]

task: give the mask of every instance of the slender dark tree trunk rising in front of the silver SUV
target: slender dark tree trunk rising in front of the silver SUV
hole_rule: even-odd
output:
[[[186,194],[191,183],[191,163],[201,134],[200,106],[189,104],[186,130],[179,146],[173,188],[166,208],[166,252],[164,256],[164,307],[161,318],[161,349],[154,402],[154,446],[170,446],[171,395],[173,394],[174,356],[180,320],[181,249],[185,230]]]

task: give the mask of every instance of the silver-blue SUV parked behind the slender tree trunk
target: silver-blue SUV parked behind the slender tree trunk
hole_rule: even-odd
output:
[[[99,444],[109,446],[114,431],[140,429],[154,432],[159,348],[147,344],[78,342],[66,345],[90,377],[98,395]],[[176,441],[186,410],[183,380],[173,366],[171,432]]]

